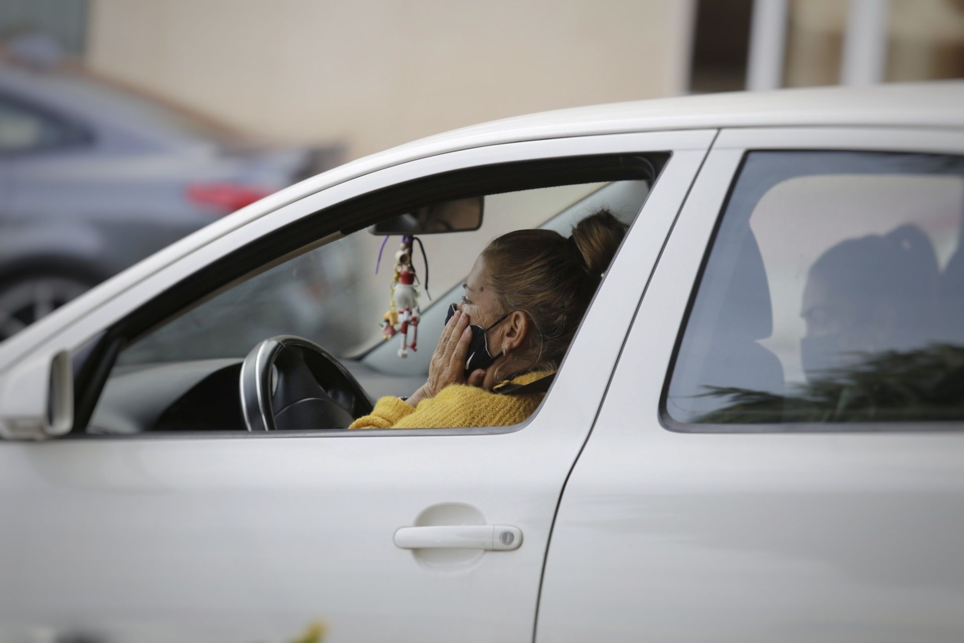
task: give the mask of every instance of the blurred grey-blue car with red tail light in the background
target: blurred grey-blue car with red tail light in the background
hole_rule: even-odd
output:
[[[0,61],[0,341],[215,219],[340,162],[63,64]]]

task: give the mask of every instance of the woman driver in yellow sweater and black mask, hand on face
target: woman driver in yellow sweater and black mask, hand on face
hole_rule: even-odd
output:
[[[602,210],[576,224],[569,238],[528,229],[495,239],[449,311],[425,384],[407,398],[383,397],[350,428],[522,422],[543,396],[522,387],[558,368],[625,234],[626,226]]]

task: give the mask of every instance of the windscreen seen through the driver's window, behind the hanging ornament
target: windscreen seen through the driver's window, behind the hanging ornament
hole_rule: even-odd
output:
[[[431,295],[460,286],[491,239],[511,229],[538,228],[602,187],[592,183],[490,195],[478,230],[420,236],[429,260],[429,292],[420,299],[422,308],[435,304]],[[119,363],[240,358],[261,339],[282,334],[305,336],[339,358],[362,354],[382,341],[379,323],[388,306],[394,252],[387,246],[378,262],[383,241],[385,237],[356,232],[275,266],[142,338],[121,353]],[[397,245],[397,238],[388,243]],[[420,254],[415,268],[424,280]]]

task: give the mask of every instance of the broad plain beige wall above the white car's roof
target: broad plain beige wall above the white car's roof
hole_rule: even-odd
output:
[[[682,94],[692,0],[93,0],[95,70],[348,158],[475,122]]]

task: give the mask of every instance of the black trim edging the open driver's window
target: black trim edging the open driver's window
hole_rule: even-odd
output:
[[[494,163],[491,165],[475,166],[438,174],[429,174],[403,181],[388,187],[362,194],[358,197],[340,201],[329,207],[322,208],[290,224],[271,230],[254,239],[249,244],[218,257],[215,261],[204,265],[185,279],[176,281],[163,291],[157,293],[144,305],[134,308],[115,324],[107,328],[94,347],[88,349],[88,357],[82,363],[75,364],[78,375],[75,383],[77,394],[75,408],[75,422],[67,437],[89,438],[120,438],[130,440],[135,436],[97,436],[88,435],[84,431],[94,414],[94,408],[100,397],[103,386],[113,369],[120,350],[139,336],[148,333],[160,324],[166,323],[174,315],[183,310],[196,306],[218,291],[238,281],[250,279],[256,274],[267,270],[272,265],[288,257],[300,255],[313,247],[317,247],[323,239],[333,235],[347,235],[367,228],[375,221],[386,219],[404,212],[418,203],[427,201],[442,201],[446,199],[467,196],[485,196],[500,192],[513,192],[524,189],[555,187],[562,185],[576,185],[580,183],[598,182],[599,180],[638,180],[646,179],[651,182],[651,192],[656,179],[670,162],[673,147],[662,150],[643,150],[638,152],[591,153],[585,155],[557,156],[536,160],[511,161]],[[633,160],[635,158],[635,160]],[[642,160],[644,163],[639,163]],[[594,164],[594,167],[587,167]],[[656,175],[652,175],[655,170]],[[428,193],[426,192],[428,188]],[[391,200],[391,206],[385,205]],[[643,204],[645,205],[645,203]],[[642,210],[642,206],[640,211]],[[360,214],[362,212],[362,214]],[[638,212],[637,217],[638,218]],[[634,219],[635,222],[635,219]],[[306,233],[313,235],[311,242],[306,244]],[[265,261],[265,247],[270,248],[269,254],[273,259]],[[252,264],[256,263],[254,267]],[[240,267],[239,267],[240,266]],[[201,278],[199,279],[199,275]],[[176,292],[181,286],[190,286],[188,294]],[[158,303],[160,302],[160,303]],[[178,303],[180,302],[180,303]],[[154,311],[160,308],[157,313]],[[167,313],[163,311],[167,310]],[[154,321],[150,321],[153,317]],[[88,362],[88,361],[95,361]],[[545,399],[549,398],[549,392]],[[539,408],[524,422],[509,427],[489,427],[489,431],[481,429],[406,429],[407,435],[419,435],[417,432],[427,431],[425,435],[447,435],[440,431],[455,431],[452,435],[499,435],[522,429],[536,415]],[[335,429],[320,430],[323,435],[332,435]],[[342,434],[357,435],[357,431]],[[364,430],[365,435],[375,435],[372,430]],[[381,431],[381,430],[378,430]],[[398,435],[399,430],[389,430],[388,435]],[[416,433],[412,433],[416,432]],[[201,434],[217,434],[222,432],[179,431],[156,432],[156,435],[169,433],[174,437],[185,435],[200,436]],[[228,431],[223,433],[247,435],[246,431]],[[281,432],[278,432],[281,433]],[[296,432],[284,432],[287,435]],[[319,435],[319,430],[308,431],[310,435]],[[147,434],[138,434],[146,436]],[[62,438],[63,439],[63,438]]]

